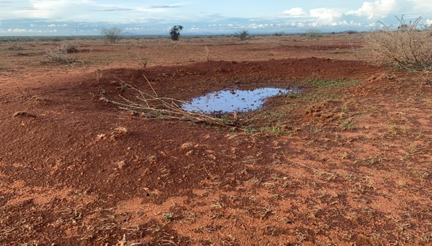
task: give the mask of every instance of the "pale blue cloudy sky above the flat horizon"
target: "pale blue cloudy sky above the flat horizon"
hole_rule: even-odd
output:
[[[0,36],[100,35],[123,28],[126,35],[231,35],[373,30],[397,26],[396,17],[432,25],[432,0],[0,0]]]

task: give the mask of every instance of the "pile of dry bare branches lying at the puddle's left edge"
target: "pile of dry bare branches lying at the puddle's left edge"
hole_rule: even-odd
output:
[[[145,80],[152,89],[153,95],[147,94],[138,88],[135,88],[134,86],[122,81],[122,88],[125,86],[125,88],[132,89],[137,93],[134,98],[126,98],[120,95],[123,102],[108,100],[106,97],[100,97],[100,100],[115,104],[125,111],[136,113],[147,119],[181,120],[186,122],[206,123],[216,126],[237,128],[238,120],[236,112],[234,112],[233,120],[226,120],[206,115],[204,113],[199,113],[199,108],[197,108],[197,111],[186,111],[185,109],[181,108],[181,105],[188,104],[194,108],[195,106],[182,100],[168,97],[159,97],[146,77]]]

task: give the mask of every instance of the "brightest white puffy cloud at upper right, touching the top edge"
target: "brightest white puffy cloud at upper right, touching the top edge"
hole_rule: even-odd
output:
[[[396,0],[365,1],[361,8],[349,11],[348,15],[368,17],[368,19],[387,17],[390,12],[397,8],[398,4],[400,3],[397,3]]]

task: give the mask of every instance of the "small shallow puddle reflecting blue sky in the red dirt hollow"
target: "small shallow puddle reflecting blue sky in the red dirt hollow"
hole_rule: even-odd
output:
[[[195,97],[188,101],[188,104],[183,104],[181,107],[187,111],[201,113],[253,111],[260,108],[267,98],[289,93],[296,93],[296,91],[282,88],[216,91],[202,95],[201,97]]]

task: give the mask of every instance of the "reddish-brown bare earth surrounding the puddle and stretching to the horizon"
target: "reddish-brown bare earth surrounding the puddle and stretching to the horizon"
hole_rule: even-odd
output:
[[[59,42],[1,42],[0,244],[430,245],[432,80],[362,41],[79,39],[72,64],[46,62]],[[100,101],[148,91],[143,75],[179,100],[300,93],[234,130]]]

